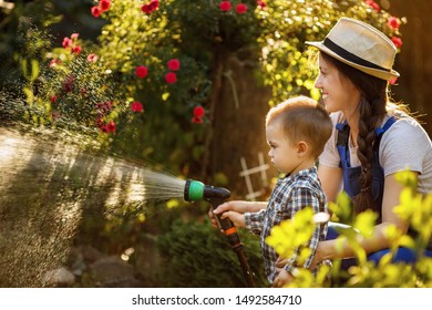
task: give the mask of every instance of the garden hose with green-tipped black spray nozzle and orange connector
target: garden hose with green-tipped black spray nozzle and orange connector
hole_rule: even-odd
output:
[[[206,200],[212,205],[212,210],[216,209],[227,198],[230,192],[223,187],[214,187],[205,185],[202,182],[187,179],[184,189],[184,199],[186,202]],[[228,238],[229,245],[237,254],[241,270],[246,277],[249,287],[255,287],[253,273],[247,262],[246,254],[243,248],[240,237],[237,234],[237,228],[229,218],[222,218],[220,215],[215,215],[218,227],[224,231]]]

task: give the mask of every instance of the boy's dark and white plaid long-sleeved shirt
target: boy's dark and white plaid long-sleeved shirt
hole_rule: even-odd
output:
[[[245,213],[246,229],[260,236],[260,245],[266,266],[266,275],[270,283],[277,276],[276,260],[278,258],[274,248],[266,244],[266,237],[270,235],[272,227],[281,221],[292,218],[294,215],[305,207],[312,207],[313,213],[327,213],[327,198],[321,188],[321,183],[318,179],[317,168],[313,166],[308,169],[284,178],[279,178],[267,208],[258,213]],[[306,260],[304,268],[309,268],[318,241],[325,240],[327,235],[327,224],[317,225],[313,230],[312,238],[309,242],[309,248],[312,254]],[[285,269],[290,273],[295,272],[297,266],[297,256],[289,258]]]

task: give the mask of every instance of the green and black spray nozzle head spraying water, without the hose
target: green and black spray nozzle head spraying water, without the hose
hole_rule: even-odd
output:
[[[186,179],[184,199],[186,202],[196,202],[196,200],[225,200],[229,198],[230,192],[223,187],[214,187],[210,185],[205,185],[199,180]]]

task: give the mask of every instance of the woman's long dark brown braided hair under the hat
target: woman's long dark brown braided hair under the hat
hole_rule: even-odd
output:
[[[321,53],[321,56],[326,62],[335,65],[361,93],[358,105],[360,117],[357,137],[359,145],[357,155],[361,163],[360,193],[352,200],[356,214],[368,208],[381,214],[381,206],[376,206],[372,197],[372,161],[376,130],[381,125],[387,113],[388,82],[363,73],[326,53]]]

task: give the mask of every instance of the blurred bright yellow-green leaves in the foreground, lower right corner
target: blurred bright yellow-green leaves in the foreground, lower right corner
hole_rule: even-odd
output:
[[[432,193],[425,197],[416,194],[413,190],[415,177],[411,172],[399,173],[398,179],[404,184],[405,188],[401,194],[401,204],[395,207],[395,211],[409,223],[411,229],[416,231],[414,237],[411,234],[410,236],[403,234],[394,225],[389,225],[385,237],[391,244],[391,251],[384,255],[378,265],[368,261],[367,254],[359,244],[359,237],[361,239],[371,237],[378,215],[366,210],[356,217],[348,216],[351,214],[350,202],[342,193],[338,204],[331,204],[330,209],[335,214],[333,219],[350,219],[343,221],[350,226],[338,229],[340,236],[337,241],[340,246],[342,242],[348,242],[354,249],[358,265],[350,267],[347,273],[340,269],[341,261],[335,260],[331,271],[323,268],[316,278],[311,271],[300,268],[299,275],[289,287],[327,287],[329,286],[328,272],[332,287],[431,287],[432,258],[424,256],[424,249],[431,241]],[[305,230],[298,234],[301,227],[305,227]],[[301,249],[306,245],[305,236],[310,238],[312,231],[312,213],[305,209],[298,213],[294,219],[275,227],[267,242],[274,246],[279,255],[289,256],[295,249]],[[392,262],[399,247],[412,249],[418,256],[416,262],[412,265]]]

